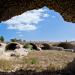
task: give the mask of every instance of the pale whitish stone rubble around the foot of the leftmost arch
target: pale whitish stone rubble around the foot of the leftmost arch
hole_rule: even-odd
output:
[[[22,48],[22,45],[19,49],[15,49],[14,51],[5,51],[5,43],[1,43],[2,46],[0,47],[0,59],[10,59],[12,57],[22,57],[27,56],[29,53],[29,49]]]

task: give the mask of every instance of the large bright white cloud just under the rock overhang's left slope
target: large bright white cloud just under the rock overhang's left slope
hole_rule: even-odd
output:
[[[30,10],[21,15],[12,17],[3,23],[8,25],[8,29],[17,29],[20,31],[36,30],[38,23],[49,16],[45,11],[47,10],[44,8]]]

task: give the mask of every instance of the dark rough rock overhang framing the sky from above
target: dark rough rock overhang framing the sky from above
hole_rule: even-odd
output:
[[[75,23],[75,0],[0,0],[0,21],[44,6],[59,12],[64,20]]]

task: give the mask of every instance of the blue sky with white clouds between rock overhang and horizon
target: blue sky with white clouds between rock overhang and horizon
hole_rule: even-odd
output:
[[[65,41],[75,40],[75,23],[65,22],[54,10],[43,7],[0,23],[0,35],[5,40]]]

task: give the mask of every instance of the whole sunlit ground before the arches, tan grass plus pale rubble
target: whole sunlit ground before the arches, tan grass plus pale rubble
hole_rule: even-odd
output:
[[[0,71],[24,70],[60,70],[75,59],[74,52],[46,50],[30,51],[16,49],[15,51],[5,51],[6,44],[2,43],[0,47]],[[11,54],[16,56],[11,57]]]

